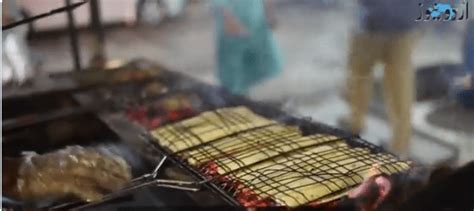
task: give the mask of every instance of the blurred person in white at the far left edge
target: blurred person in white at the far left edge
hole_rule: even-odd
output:
[[[2,4],[2,26],[21,20],[20,7],[15,0]],[[27,25],[5,30],[2,34],[2,85],[24,84],[34,75],[30,51],[27,46]]]

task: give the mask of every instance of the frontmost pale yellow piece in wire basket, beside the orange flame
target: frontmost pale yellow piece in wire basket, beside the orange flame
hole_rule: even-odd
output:
[[[397,163],[392,157],[372,155],[365,149],[320,146],[244,168],[229,177],[252,187],[261,197],[272,197],[294,207],[325,200],[360,184],[376,163],[387,174],[408,168],[407,164]]]

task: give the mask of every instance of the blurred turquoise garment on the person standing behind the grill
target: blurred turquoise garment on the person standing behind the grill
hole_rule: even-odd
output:
[[[281,57],[269,28],[262,0],[214,0],[218,78],[234,94],[247,94],[257,83],[281,71]],[[222,8],[232,11],[249,32],[228,36]]]

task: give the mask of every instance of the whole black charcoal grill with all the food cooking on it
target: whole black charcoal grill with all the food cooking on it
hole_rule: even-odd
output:
[[[3,135],[3,190],[15,203],[5,206],[83,209],[162,193],[257,209],[460,210],[470,206],[464,196],[474,197],[473,164],[443,170],[400,160],[357,135],[143,62],[124,66],[138,72],[118,71],[112,84],[89,81],[64,99],[39,95],[57,107],[28,112],[28,122],[8,107],[17,122]],[[63,77],[92,77],[77,74]]]

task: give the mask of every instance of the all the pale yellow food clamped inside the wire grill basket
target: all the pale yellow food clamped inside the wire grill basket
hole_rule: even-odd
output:
[[[374,165],[387,175],[409,168],[392,155],[351,147],[343,137],[303,136],[245,107],[205,112],[151,133],[244,206],[328,202],[361,184]]]

